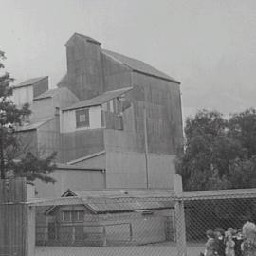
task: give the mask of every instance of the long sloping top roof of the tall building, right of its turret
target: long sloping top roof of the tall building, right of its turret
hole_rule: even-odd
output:
[[[140,73],[143,73],[143,74],[146,74],[146,75],[154,76],[154,77],[157,77],[157,78],[161,78],[161,79],[164,79],[164,80],[167,80],[167,81],[180,83],[180,82],[174,80],[174,78],[172,78],[172,77],[164,74],[163,72],[157,70],[155,67],[153,67],[150,64],[146,64],[146,63],[141,62],[137,59],[133,59],[133,58],[124,56],[124,55],[119,54],[119,53],[114,52],[114,51],[102,49],[102,52],[105,55],[116,59],[121,64],[124,64],[124,65],[128,66],[129,68],[131,68],[134,71],[137,71],[137,72],[140,72]]]

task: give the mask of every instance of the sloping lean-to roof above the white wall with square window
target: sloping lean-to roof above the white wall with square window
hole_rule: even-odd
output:
[[[114,98],[117,98],[120,95],[122,95],[122,94],[124,94],[124,93],[126,93],[126,92],[128,92],[132,89],[133,89],[133,87],[126,87],[126,88],[121,88],[121,89],[114,90],[114,91],[107,91],[107,92],[104,92],[101,95],[96,96],[92,99],[81,101],[81,102],[78,102],[78,103],[76,103],[72,106],[66,107],[63,110],[65,111],[65,110],[78,109],[78,108],[82,108],[82,107],[98,106],[98,105],[101,105],[104,102],[107,102],[107,101],[110,101]]]

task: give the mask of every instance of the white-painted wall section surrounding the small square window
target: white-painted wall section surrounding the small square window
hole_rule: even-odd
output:
[[[89,127],[79,127],[76,124],[76,110],[63,111],[61,115],[61,132],[71,133],[75,131],[101,128],[101,106],[89,108]]]

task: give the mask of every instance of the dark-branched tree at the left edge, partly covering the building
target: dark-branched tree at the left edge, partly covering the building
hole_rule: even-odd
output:
[[[29,105],[26,103],[18,108],[10,100],[12,95],[11,83],[14,81],[8,72],[4,72],[5,54],[0,51],[0,174],[5,179],[8,173],[15,176],[27,177],[27,181],[34,181],[36,178],[45,182],[55,180],[48,174],[53,172],[53,163],[56,153],[41,157],[38,152],[24,152],[16,128],[21,126],[31,114]],[[28,147],[27,147],[28,148]]]

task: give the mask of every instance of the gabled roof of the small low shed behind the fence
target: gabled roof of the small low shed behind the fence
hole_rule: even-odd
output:
[[[81,204],[96,214],[174,208],[172,190],[67,190],[62,196],[71,200],[73,196],[80,198]],[[46,214],[50,214],[56,207],[50,207]]]

